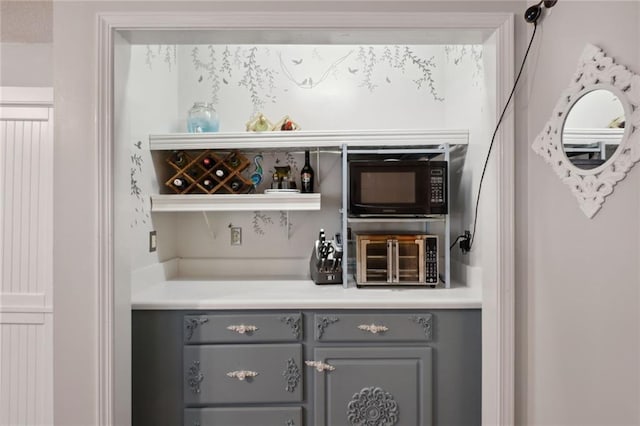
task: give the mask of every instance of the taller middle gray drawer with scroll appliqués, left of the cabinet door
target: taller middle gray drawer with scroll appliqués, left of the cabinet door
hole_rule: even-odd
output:
[[[183,368],[187,405],[302,400],[301,344],[185,346]]]

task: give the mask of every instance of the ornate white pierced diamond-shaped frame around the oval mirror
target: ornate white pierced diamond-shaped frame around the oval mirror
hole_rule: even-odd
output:
[[[562,143],[565,120],[573,105],[584,95],[604,89],[615,94],[624,107],[625,130],[620,146],[601,166],[585,170],[568,159]],[[616,64],[596,46],[587,44],[569,87],[560,95],[551,118],[533,142],[532,148],[547,161],[578,199],[584,214],[592,218],[602,207],[605,197],[624,179],[640,160],[640,75]]]

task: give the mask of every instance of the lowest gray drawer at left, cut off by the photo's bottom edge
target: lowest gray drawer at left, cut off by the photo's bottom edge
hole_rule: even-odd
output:
[[[302,407],[187,408],[184,426],[302,426]]]

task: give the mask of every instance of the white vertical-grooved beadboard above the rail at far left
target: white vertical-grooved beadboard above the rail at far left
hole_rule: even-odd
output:
[[[52,144],[49,121],[40,121],[50,113],[31,110],[37,119],[0,115],[0,293],[45,294],[50,305]]]

